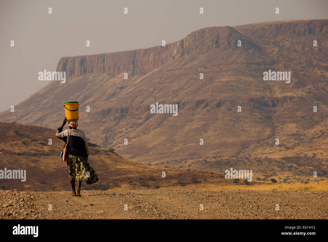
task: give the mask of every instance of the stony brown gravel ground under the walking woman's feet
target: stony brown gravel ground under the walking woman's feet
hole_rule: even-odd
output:
[[[81,191],[81,195],[0,191],[0,216],[1,219],[328,218],[328,192],[324,191],[129,190]],[[124,210],[125,204],[128,210]],[[199,209],[201,204],[203,210]]]

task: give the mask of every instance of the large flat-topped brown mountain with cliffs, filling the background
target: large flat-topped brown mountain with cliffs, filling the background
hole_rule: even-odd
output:
[[[327,34],[327,19],[276,21],[204,28],[165,47],[63,57],[57,71],[66,71],[66,83],[52,81],[0,120],[56,129],[63,103],[79,101],[79,128],[129,160],[324,177]],[[269,70],[290,71],[290,83],[264,81]],[[177,104],[177,115],[151,113],[156,102]]]

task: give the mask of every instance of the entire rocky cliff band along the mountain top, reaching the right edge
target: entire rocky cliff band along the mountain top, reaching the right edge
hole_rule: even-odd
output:
[[[261,48],[242,35],[238,30],[243,30],[250,38],[260,38],[263,34],[272,36],[277,34],[323,34],[328,33],[328,20],[300,20],[277,21],[259,23],[261,31],[254,32],[248,27],[254,25],[237,26],[236,29],[225,27],[209,27],[196,30],[180,41],[168,43],[165,47],[156,46],[147,49],[129,50],[106,54],[94,54],[86,56],[63,57],[59,60],[57,71],[66,71],[66,77],[80,76],[86,73],[103,73],[117,75],[122,72],[132,74],[147,74],[166,62],[180,58],[191,51],[205,53],[209,50],[236,49],[237,40],[241,40],[246,49],[254,49],[257,52]],[[252,33],[250,33],[252,31]]]

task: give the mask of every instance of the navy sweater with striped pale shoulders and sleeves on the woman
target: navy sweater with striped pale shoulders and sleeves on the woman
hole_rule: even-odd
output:
[[[59,127],[56,132],[56,137],[65,141],[67,143],[67,137],[71,132],[70,139],[68,141],[67,146],[67,154],[75,155],[75,156],[88,156],[89,155],[89,146],[87,137],[85,136],[82,130],[71,129],[64,130]]]

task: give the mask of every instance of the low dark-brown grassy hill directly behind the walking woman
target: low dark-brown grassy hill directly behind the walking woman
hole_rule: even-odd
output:
[[[71,190],[67,164],[59,157],[64,142],[55,133],[41,126],[0,122],[0,170],[26,170],[25,181],[0,179],[0,188],[35,192]],[[99,181],[92,185],[82,182],[82,190],[190,190],[232,183],[223,174],[143,165],[93,143],[89,147],[88,161]],[[162,171],[166,172],[165,178]]]

